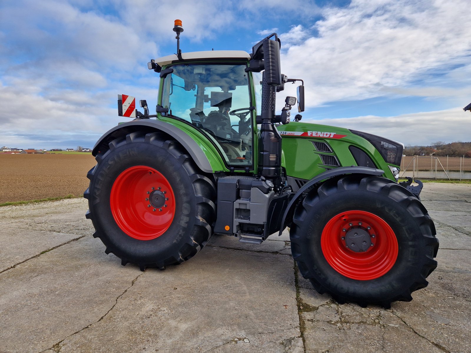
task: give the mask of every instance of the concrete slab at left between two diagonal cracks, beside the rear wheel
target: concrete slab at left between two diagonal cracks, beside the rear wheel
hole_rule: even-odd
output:
[[[41,352],[96,322],[139,274],[116,260],[84,237],[1,273],[1,351]]]

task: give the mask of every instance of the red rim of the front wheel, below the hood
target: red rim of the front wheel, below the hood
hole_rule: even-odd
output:
[[[369,235],[374,245],[370,244],[362,252],[350,249],[346,241],[351,238],[346,234],[356,230],[365,234],[365,239]],[[391,269],[398,257],[398,241],[391,227],[381,217],[359,210],[332,217],[322,232],[321,248],[325,260],[335,271],[361,281],[381,277]]]

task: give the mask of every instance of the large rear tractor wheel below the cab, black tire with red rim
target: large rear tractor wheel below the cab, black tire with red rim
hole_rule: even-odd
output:
[[[216,190],[183,147],[168,135],[133,132],[101,148],[83,196],[106,254],[144,271],[201,250],[212,235]]]

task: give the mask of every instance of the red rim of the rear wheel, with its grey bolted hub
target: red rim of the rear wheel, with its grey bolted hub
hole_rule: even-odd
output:
[[[130,167],[116,178],[110,206],[121,230],[139,240],[161,236],[175,216],[170,183],[157,170],[146,166]]]

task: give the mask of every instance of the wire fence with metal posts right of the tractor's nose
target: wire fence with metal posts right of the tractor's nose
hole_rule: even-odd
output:
[[[471,179],[471,158],[402,157],[400,177],[406,176],[417,179]]]

